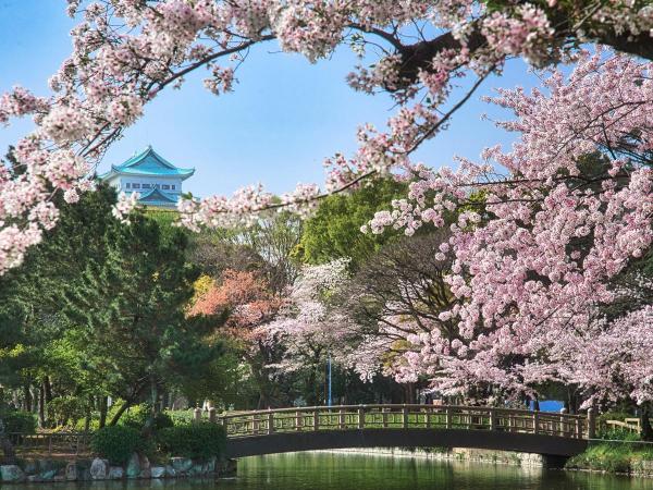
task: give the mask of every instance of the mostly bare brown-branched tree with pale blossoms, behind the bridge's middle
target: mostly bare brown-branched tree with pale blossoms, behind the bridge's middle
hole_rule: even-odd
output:
[[[340,311],[348,318],[350,347],[341,357],[361,378],[381,372],[414,384],[436,376],[435,364],[414,359],[420,339],[442,339],[448,348],[458,335],[452,318],[440,318],[457,302],[444,280],[452,264],[451,252],[441,250],[446,243],[447,233],[439,230],[389,244],[343,287]]]

